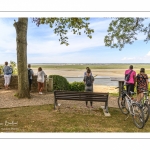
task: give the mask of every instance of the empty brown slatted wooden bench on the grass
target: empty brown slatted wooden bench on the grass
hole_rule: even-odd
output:
[[[54,91],[54,109],[58,106],[58,100],[93,101],[105,102],[105,112],[108,113],[109,93],[76,92],[76,91]]]

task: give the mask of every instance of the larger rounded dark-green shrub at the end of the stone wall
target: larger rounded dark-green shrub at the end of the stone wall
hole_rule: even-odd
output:
[[[49,75],[53,78],[53,90],[69,90],[69,82],[65,77],[60,75]]]

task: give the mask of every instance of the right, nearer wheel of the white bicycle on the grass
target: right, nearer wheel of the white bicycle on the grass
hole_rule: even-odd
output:
[[[142,107],[140,107],[136,103],[133,103],[132,108],[133,108],[133,115],[132,115],[133,122],[137,128],[142,129],[145,125]]]

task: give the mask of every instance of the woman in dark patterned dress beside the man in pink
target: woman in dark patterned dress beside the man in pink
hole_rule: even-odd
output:
[[[137,82],[137,101],[143,98],[143,92],[148,90],[148,75],[145,74],[145,68],[140,69],[140,73],[136,76]]]

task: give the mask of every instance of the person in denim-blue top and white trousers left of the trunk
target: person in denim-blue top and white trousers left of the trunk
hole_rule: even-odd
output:
[[[5,89],[8,90],[9,89],[9,84],[10,84],[12,71],[11,71],[10,66],[8,66],[8,62],[7,61],[5,62],[5,66],[3,68],[3,72],[4,72],[4,80],[5,80],[4,86],[5,86]]]

